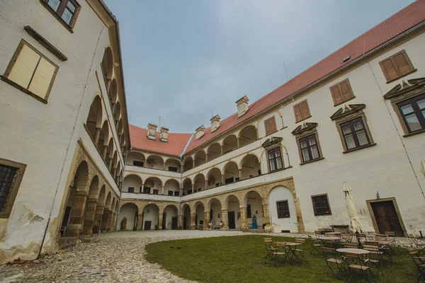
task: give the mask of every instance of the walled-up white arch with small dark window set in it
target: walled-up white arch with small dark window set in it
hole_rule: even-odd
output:
[[[283,186],[274,187],[268,195],[268,209],[273,231],[297,233],[297,215],[292,192]]]

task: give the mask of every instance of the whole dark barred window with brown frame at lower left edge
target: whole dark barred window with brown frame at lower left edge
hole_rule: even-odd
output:
[[[0,218],[8,218],[26,165],[0,158]]]

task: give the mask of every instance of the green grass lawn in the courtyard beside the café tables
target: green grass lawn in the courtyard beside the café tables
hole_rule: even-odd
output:
[[[174,275],[198,282],[344,282],[332,275],[327,277],[322,253],[310,255],[307,242],[306,265],[286,263],[275,267],[271,260],[264,260],[263,238],[252,235],[152,243],[146,246],[147,260],[159,263]],[[295,239],[273,237],[273,241]],[[380,276],[380,281],[416,282],[416,266],[407,250],[397,250],[393,259],[392,263],[384,263],[385,277]]]

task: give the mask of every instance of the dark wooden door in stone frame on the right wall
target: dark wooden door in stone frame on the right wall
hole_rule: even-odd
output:
[[[373,214],[375,214],[376,224],[378,224],[379,233],[394,231],[395,236],[404,237],[402,225],[399,222],[397,212],[392,201],[372,202]]]

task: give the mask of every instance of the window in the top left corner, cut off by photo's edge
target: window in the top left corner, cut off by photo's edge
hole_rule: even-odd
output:
[[[56,18],[60,18],[68,28],[74,28],[75,21],[81,8],[75,0],[41,0],[51,9]]]

